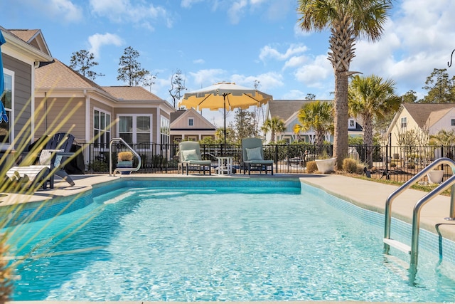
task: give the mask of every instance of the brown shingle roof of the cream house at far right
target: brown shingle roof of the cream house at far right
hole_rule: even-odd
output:
[[[441,118],[441,115],[446,113],[443,110],[455,108],[454,103],[403,103],[402,106],[410,113],[419,127],[425,126],[430,115],[430,122],[433,124],[439,120],[438,117]],[[434,113],[432,114],[432,112]]]

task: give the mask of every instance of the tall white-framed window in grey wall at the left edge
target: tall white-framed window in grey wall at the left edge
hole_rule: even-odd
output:
[[[4,68],[4,81],[5,90],[3,95],[1,95],[1,102],[5,107],[8,122],[4,120],[0,122],[0,147],[7,148],[14,140],[13,132],[11,132],[11,126],[14,125],[14,117],[12,115],[14,107],[14,72]]]

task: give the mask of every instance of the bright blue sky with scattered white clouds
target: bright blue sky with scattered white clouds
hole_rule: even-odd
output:
[[[39,28],[50,52],[70,64],[75,51],[95,54],[100,85],[117,80],[124,48],[139,51],[156,74],[151,92],[171,101],[171,75],[181,70],[188,91],[220,81],[252,87],[274,99],[331,99],[328,32],[297,26],[296,0],[1,0],[4,28]],[[7,13],[7,14],[5,14]],[[382,38],[358,41],[350,70],[395,80],[397,93],[422,98],[434,68],[447,68],[455,48],[453,0],[396,0]],[[454,58],[455,61],[455,58]],[[204,110],[205,111],[205,110]],[[221,126],[220,113],[203,112]],[[233,116],[232,113],[230,115]]]

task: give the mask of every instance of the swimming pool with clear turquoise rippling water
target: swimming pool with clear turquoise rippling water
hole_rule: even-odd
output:
[[[415,286],[382,255],[382,215],[295,181],[252,183],[95,189],[41,237],[102,207],[55,251],[102,248],[24,264],[14,300],[453,301],[454,266],[424,241]]]

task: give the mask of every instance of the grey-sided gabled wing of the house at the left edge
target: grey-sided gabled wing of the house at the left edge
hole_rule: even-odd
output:
[[[14,152],[33,142],[35,104],[31,100],[35,98],[36,67],[42,61],[52,61],[52,56],[40,30],[23,33],[0,26],[0,31],[6,40],[1,46],[5,78],[1,101],[9,117],[9,122],[0,123],[1,157],[1,152]]]

